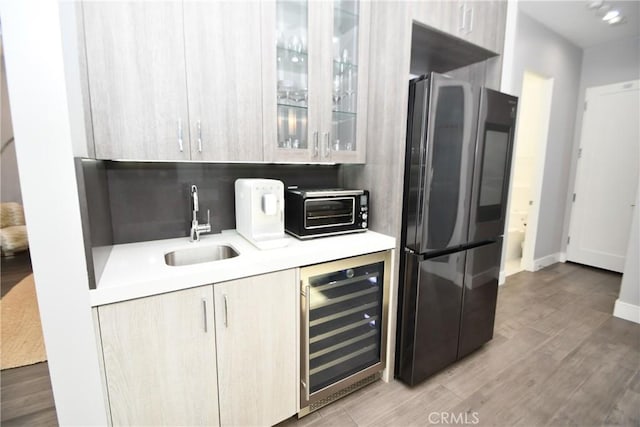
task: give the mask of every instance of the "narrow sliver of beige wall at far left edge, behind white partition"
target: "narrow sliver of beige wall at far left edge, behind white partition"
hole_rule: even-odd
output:
[[[1,37],[0,37],[1,39]],[[0,48],[1,49],[1,48]],[[18,161],[16,160],[16,146],[10,142],[13,138],[11,124],[11,108],[7,92],[7,78],[4,67],[4,51],[0,55],[0,201],[22,203],[20,194],[20,178],[18,177]]]

